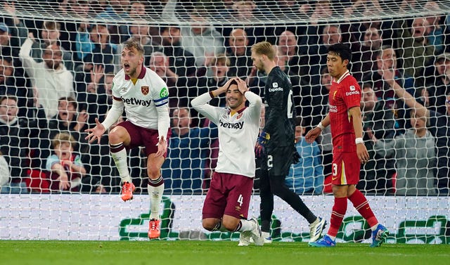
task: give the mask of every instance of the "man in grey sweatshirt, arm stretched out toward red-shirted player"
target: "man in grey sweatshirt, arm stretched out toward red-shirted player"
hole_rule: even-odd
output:
[[[394,155],[397,169],[395,194],[435,195],[436,165],[435,137],[426,127],[427,118],[411,110],[411,129],[391,141],[378,140],[372,132],[368,136],[375,143],[378,154]],[[432,169],[432,170],[430,170]]]

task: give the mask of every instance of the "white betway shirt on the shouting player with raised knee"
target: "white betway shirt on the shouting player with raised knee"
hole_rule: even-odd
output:
[[[113,79],[113,98],[122,101],[127,120],[148,129],[158,129],[159,136],[166,136],[170,125],[169,91],[167,84],[155,72],[142,67],[136,84],[124,70]]]

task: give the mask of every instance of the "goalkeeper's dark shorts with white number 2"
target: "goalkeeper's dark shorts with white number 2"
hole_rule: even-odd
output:
[[[262,157],[261,169],[269,172],[269,177],[289,174],[290,164],[293,162],[293,147],[278,146],[267,150]]]

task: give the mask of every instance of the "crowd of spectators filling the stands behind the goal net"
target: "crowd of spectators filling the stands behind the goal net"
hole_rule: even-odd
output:
[[[236,76],[264,98],[266,79],[252,67],[250,47],[269,41],[293,84],[301,117],[296,138],[302,159],[287,178],[290,188],[330,191],[330,131],[312,147],[302,135],[328,112],[326,50],[345,43],[353,52],[350,72],[363,91],[364,143],[371,155],[358,188],[378,195],[449,195],[450,15],[364,20],[383,12],[384,1],[212,2],[213,8],[176,0],[42,1],[60,14],[42,20],[24,18],[18,2],[4,1],[0,172],[9,176],[1,173],[1,193],[120,191],[107,136],[89,145],[84,130],[108,112],[122,43],[135,39],[145,49],[145,66],[169,89],[172,138],[162,168],[167,194],[205,193],[217,162],[217,127],[191,108],[191,100]],[[405,13],[439,11],[439,1],[397,4]],[[349,22],[333,22],[342,16]],[[71,19],[58,19],[64,17]],[[217,18],[229,22],[210,22]],[[274,22],[257,25],[262,20]],[[139,148],[130,152],[131,176],[145,190],[139,176],[146,174],[146,155]]]

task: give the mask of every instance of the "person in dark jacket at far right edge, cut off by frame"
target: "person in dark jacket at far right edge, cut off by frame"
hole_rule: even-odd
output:
[[[428,77],[426,87],[430,93],[430,110],[445,113],[446,95],[450,93],[450,53],[437,56],[435,72]]]

